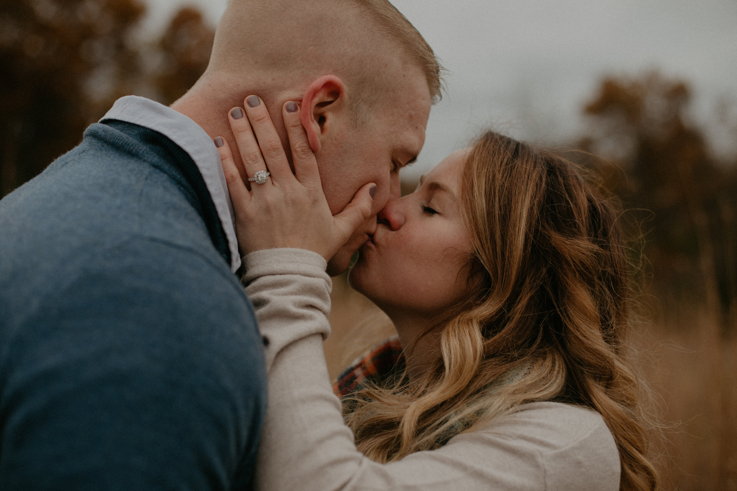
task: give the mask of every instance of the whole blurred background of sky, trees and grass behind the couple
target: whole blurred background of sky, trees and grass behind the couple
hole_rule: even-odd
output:
[[[449,72],[403,188],[489,126],[594,169],[628,210],[633,258],[646,257],[632,342],[666,425],[666,490],[737,491],[737,2],[394,4]],[[4,0],[0,196],[119,96],[181,96],[225,5]],[[333,299],[335,376],[393,328],[345,278]]]

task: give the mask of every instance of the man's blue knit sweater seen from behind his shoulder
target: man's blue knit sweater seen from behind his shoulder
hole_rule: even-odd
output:
[[[263,347],[195,163],[93,124],[0,201],[0,489],[241,490]]]

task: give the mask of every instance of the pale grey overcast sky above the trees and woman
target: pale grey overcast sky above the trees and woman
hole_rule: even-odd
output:
[[[606,74],[657,68],[694,88],[694,119],[716,106],[737,113],[737,0],[394,0],[441,58],[447,93],[433,107],[427,140],[407,177],[491,125],[538,143],[584,130],[581,107]],[[156,32],[184,4],[214,25],[226,0],[150,0]],[[734,148],[733,135],[713,138]]]

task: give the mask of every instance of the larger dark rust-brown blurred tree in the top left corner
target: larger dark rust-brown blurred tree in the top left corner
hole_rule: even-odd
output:
[[[0,196],[80,141],[85,84],[125,70],[139,0],[11,0],[0,6]]]

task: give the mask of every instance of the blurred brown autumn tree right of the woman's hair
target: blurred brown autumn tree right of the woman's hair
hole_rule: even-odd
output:
[[[657,73],[604,80],[585,107],[593,125],[581,146],[609,158],[596,164],[604,186],[639,211],[657,286],[668,290],[660,293],[701,290],[694,300],[721,307],[728,321],[737,308],[737,162],[714,157],[688,120],[689,102],[684,82]]]

